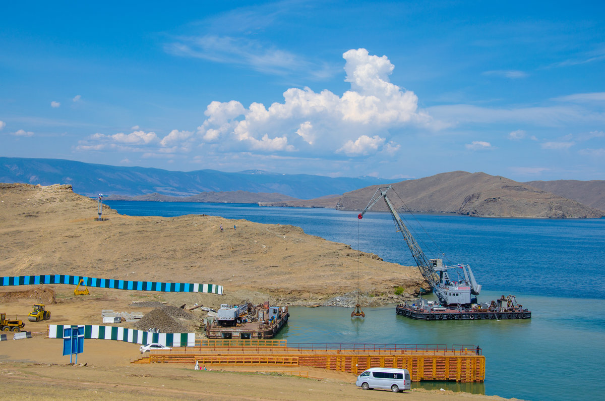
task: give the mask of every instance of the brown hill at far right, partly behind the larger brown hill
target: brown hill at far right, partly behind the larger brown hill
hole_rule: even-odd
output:
[[[605,210],[605,181],[529,181],[525,184],[543,191],[577,200],[583,205]]]

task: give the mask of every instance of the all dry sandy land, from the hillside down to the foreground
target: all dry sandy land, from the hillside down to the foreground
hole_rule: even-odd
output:
[[[356,290],[374,302],[411,296],[422,285],[416,268],[386,263],[345,244],[308,236],[300,228],[254,224],[210,216],[131,217],[104,209],[97,222],[96,201],[62,187],[0,184],[0,276],[73,274],[125,280],[216,283],[226,295],[152,293],[74,286],[0,287],[0,311],[25,321],[33,338],[0,342],[3,398],[19,399],[262,399],[336,400],[500,399],[451,391],[362,391],[355,377],[335,371],[295,368],[309,378],[286,373],[195,371],[193,366],[132,364],[139,345],[85,340],[78,365],[62,356],[62,340],[46,339],[47,324],[101,324],[101,311],[140,311],[136,301],[169,305],[271,300],[292,305],[321,303]],[[221,233],[220,224],[224,231]],[[237,225],[234,230],[233,225]],[[370,297],[368,297],[370,299]],[[28,322],[34,302],[44,302],[51,320]],[[193,312],[196,329],[204,313]],[[120,323],[134,328],[134,323]],[[85,364],[85,366],[84,366]],[[263,368],[260,368],[263,369]],[[249,368],[241,368],[249,370]],[[314,379],[321,377],[322,379]]]

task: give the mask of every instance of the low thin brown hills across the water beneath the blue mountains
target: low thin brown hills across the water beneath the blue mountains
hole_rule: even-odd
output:
[[[145,200],[155,202],[200,202],[216,204],[258,204],[259,202],[283,202],[288,200],[298,200],[295,197],[280,193],[253,193],[247,191],[201,192],[191,196],[169,196],[154,192],[139,196],[111,195],[106,197],[106,199]]]

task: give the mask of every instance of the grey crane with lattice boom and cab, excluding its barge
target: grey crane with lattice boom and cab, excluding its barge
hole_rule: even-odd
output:
[[[408,230],[407,225],[405,225],[404,221],[401,219],[401,217],[399,217],[399,214],[391,203],[391,200],[388,199],[387,191],[391,188],[393,188],[392,185],[378,188],[365,209],[358,214],[358,218],[362,219],[365,212],[370,210],[370,208],[373,207],[376,202],[383,199],[387,204],[388,210],[393,216],[394,223],[397,226],[397,231],[404,236],[405,243],[408,245],[408,248],[410,248],[412,257],[420,269],[420,274],[422,274],[422,277],[427,280],[428,284],[431,286],[431,289],[436,294],[437,298],[439,298],[439,302],[442,303],[442,305],[471,303],[471,293],[477,295],[481,289],[481,286],[477,284],[475,277],[473,276],[471,267],[469,265],[447,267],[443,266],[441,259],[428,259],[422,251],[422,248],[420,248],[420,245],[418,245],[410,233],[410,230]],[[460,282],[451,280],[450,275],[448,274],[448,270],[455,268],[462,269],[463,275],[458,272]]]

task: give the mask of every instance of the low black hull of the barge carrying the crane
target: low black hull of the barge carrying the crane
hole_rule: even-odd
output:
[[[395,307],[397,314],[416,320],[508,320],[508,319],[531,319],[531,311],[486,311],[486,310],[445,310],[430,311],[425,309],[410,308],[405,305]]]

